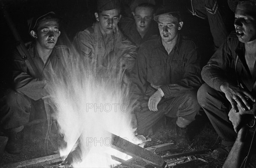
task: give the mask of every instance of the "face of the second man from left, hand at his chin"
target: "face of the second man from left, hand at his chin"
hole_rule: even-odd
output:
[[[103,34],[112,34],[116,32],[117,23],[121,15],[119,9],[112,9],[108,11],[102,11],[101,13],[95,13],[96,20],[99,22],[99,26]]]

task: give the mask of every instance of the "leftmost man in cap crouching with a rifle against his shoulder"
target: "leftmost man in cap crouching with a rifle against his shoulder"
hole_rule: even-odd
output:
[[[30,70],[20,53],[15,51],[14,88],[7,90],[1,99],[0,124],[9,136],[6,151],[11,154],[22,151],[23,128],[31,119],[30,116],[45,116],[43,98],[49,96],[47,77],[58,78],[65,69],[61,64],[62,58],[70,55],[67,46],[56,46],[61,32],[54,12],[30,19],[29,34],[34,41],[27,46],[27,50],[37,69]]]

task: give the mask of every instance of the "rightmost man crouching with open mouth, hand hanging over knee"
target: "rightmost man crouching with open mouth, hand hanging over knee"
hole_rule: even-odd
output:
[[[219,157],[230,152],[247,119],[255,122],[256,112],[256,1],[228,3],[235,12],[236,32],[230,33],[203,67],[206,84],[198,90],[198,102],[222,138],[224,148],[213,151]]]

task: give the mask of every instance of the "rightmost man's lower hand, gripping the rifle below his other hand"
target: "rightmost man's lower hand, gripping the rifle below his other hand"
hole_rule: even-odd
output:
[[[242,110],[242,109],[240,109]],[[236,133],[239,132],[241,126],[242,126],[242,115],[241,113],[236,113],[235,109],[232,108],[230,112],[228,113],[229,120],[232,122],[234,130]]]

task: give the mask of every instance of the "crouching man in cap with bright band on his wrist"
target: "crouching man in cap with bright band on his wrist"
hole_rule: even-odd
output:
[[[160,36],[140,46],[134,67],[137,131],[146,135],[163,116],[177,117],[177,142],[183,143],[200,108],[196,98],[201,86],[197,47],[180,34],[183,21],[177,6],[160,7],[154,20]]]

